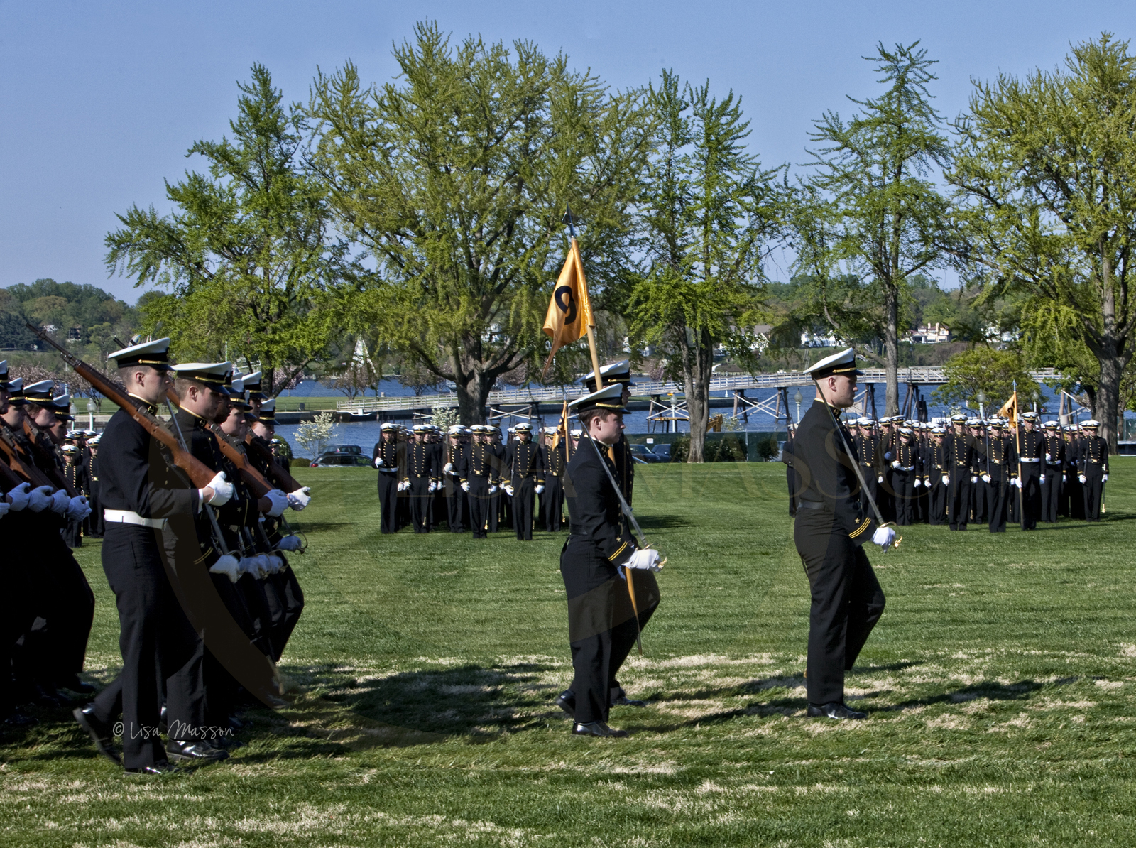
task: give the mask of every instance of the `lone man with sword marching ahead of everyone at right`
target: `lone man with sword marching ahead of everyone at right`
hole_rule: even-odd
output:
[[[817,399],[794,440],[802,490],[793,539],[812,595],[808,715],[863,718],[844,702],[844,674],[883,615],[884,592],[862,546],[870,540],[886,551],[895,531],[864,514],[851,437],[836,421],[855,396],[855,351],[826,357],[805,373],[817,382]]]

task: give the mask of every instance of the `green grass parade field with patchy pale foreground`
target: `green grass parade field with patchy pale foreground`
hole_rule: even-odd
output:
[[[1118,845],[1136,832],[1136,462],[1106,521],[908,527],[858,723],[803,717],[808,589],[779,464],[640,466],[669,555],[626,740],[574,738],[562,535],[378,533],[374,472],[315,499],[283,667],[227,763],[124,778],[62,716],[0,747],[3,846]],[[9,518],[10,519],[10,518]],[[1044,526],[1044,525],[1043,525]],[[118,663],[97,544],[90,676]],[[1128,834],[1127,837],[1125,834]]]

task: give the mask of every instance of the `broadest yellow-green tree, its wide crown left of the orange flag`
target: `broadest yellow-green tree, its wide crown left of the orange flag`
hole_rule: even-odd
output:
[[[381,284],[351,308],[453,381],[473,424],[498,377],[546,350],[567,205],[588,282],[621,273],[648,118],[637,93],[527,42],[452,48],[426,23],[394,58],[401,77],[384,85],[365,86],[350,64],[316,78],[315,160],[344,231],[378,263]]]

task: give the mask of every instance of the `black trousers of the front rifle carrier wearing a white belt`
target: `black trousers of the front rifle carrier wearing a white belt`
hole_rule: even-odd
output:
[[[170,739],[193,739],[204,724],[200,639],[182,612],[162,565],[156,531],[107,524],[102,570],[118,607],[123,671],[99,692],[94,713],[123,716],[123,765],[141,768],[166,759],[158,735],[162,689]]]

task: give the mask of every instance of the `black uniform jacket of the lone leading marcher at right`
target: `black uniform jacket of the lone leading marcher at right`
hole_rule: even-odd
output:
[[[822,505],[835,516],[834,531],[846,533],[855,544],[871,539],[875,521],[863,514],[860,482],[845,444],[852,439],[843,425],[843,439],[836,430],[834,411],[822,400],[815,400],[801,418],[793,441],[793,467],[801,487],[799,505]],[[797,512],[800,519],[802,513]]]

